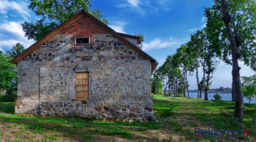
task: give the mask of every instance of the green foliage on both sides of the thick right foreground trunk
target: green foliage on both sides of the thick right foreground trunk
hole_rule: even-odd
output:
[[[237,59],[256,71],[256,2],[254,0],[228,1],[227,11],[238,50]],[[222,7],[219,0],[214,0],[212,8],[206,8],[207,28],[211,31],[212,46],[222,52],[222,60],[232,65],[230,43],[225,31]],[[222,49],[222,50],[219,50]]]

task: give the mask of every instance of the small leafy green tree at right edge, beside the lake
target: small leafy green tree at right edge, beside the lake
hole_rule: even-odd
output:
[[[242,77],[242,89],[243,89],[243,96],[251,102],[251,98],[256,97],[256,74],[253,76],[243,76]]]

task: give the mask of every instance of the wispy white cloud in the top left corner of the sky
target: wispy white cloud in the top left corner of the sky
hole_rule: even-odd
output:
[[[0,13],[8,14],[10,11],[15,11],[15,13],[19,13],[19,15],[26,21],[28,21],[29,14],[28,3],[25,2],[14,2],[8,0],[0,1]]]

